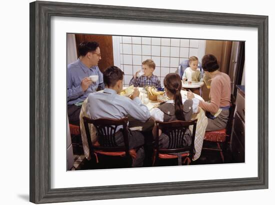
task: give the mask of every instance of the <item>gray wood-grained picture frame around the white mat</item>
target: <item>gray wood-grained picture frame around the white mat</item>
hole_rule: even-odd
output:
[[[109,5],[30,3],[30,201],[34,203],[261,189],[268,187],[268,16]],[[50,188],[50,17],[193,23],[258,29],[258,176],[95,187]],[[64,136],[65,137],[65,136]],[[92,184],[91,184],[92,185]]]

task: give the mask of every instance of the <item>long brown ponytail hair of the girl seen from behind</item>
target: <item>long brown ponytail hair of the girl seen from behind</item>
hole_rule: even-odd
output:
[[[181,79],[177,73],[169,73],[164,77],[164,87],[174,94],[175,116],[178,120],[185,120],[183,115],[183,104],[181,100]]]

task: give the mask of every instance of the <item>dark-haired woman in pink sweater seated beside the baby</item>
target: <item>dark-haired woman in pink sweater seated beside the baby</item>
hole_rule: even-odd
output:
[[[212,54],[204,55],[202,58],[202,68],[205,74],[211,77],[211,87],[208,102],[199,101],[199,106],[204,109],[208,117],[206,131],[214,131],[226,127],[229,107],[231,84],[230,77],[218,70],[217,59]],[[192,92],[187,92],[187,98],[193,98]]]

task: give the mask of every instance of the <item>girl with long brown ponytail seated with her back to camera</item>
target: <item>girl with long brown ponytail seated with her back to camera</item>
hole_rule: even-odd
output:
[[[155,120],[168,122],[174,120],[188,121],[191,119],[193,113],[199,112],[198,103],[199,100],[184,99],[181,97],[181,79],[177,73],[169,73],[164,77],[163,80],[164,90],[166,92],[169,100],[160,104],[157,108],[151,110],[151,116]],[[156,125],[154,125],[152,130],[153,137],[156,137]],[[161,133],[159,130],[159,146],[162,148],[167,148],[168,146],[168,136]],[[191,143],[190,132],[186,133],[184,139],[186,146]]]

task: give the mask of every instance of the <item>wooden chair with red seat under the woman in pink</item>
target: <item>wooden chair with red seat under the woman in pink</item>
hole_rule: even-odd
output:
[[[229,108],[229,117],[226,128],[216,131],[206,131],[203,139],[204,142],[202,145],[202,149],[219,151],[222,162],[224,162],[223,153],[227,149],[228,143],[230,142],[235,106],[235,97],[231,94],[231,104]],[[216,143],[216,147],[213,148],[206,146],[205,141],[210,144]]]

